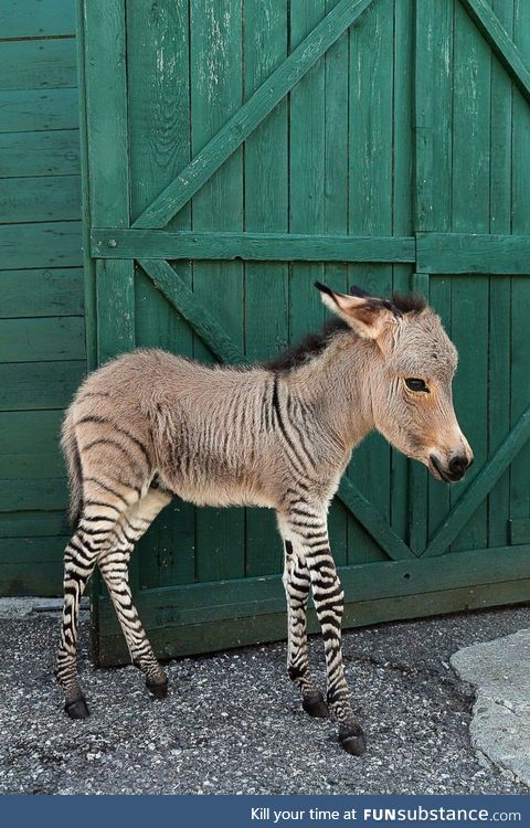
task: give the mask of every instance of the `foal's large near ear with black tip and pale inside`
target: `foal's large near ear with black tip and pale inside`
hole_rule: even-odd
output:
[[[316,282],[315,287],[320,290],[324,304],[363,339],[379,339],[389,325],[395,321],[392,306],[384,299],[368,296],[364,291],[360,291],[361,296],[338,294],[320,282]]]

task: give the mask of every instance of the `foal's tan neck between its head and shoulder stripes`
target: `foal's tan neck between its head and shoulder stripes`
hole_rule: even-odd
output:
[[[318,410],[319,420],[347,452],[374,427],[370,376],[378,359],[372,342],[347,331],[333,337],[317,358],[287,374],[289,392]]]

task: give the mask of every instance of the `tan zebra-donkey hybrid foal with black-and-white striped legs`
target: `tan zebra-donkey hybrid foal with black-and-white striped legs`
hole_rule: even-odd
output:
[[[418,297],[350,296],[317,283],[338,315],[319,335],[267,363],[209,367],[138,350],[93,373],[66,413],[63,448],[75,532],[65,551],[56,676],[73,719],[88,715],[77,680],[80,598],[98,564],[147,687],[167,678],[132,604],[135,543],[173,495],[197,505],[275,509],[285,545],[288,673],[315,716],[335,713],[346,751],[364,751],[341,655],[343,593],[331,556],[328,506],[353,447],[373,428],[459,480],[473,459],[453,408],[457,353]],[[324,633],[327,701],[307,656],[309,592]]]

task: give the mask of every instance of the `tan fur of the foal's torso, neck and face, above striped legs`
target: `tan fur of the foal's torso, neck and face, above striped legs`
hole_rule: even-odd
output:
[[[470,453],[453,411],[455,368],[456,350],[425,310],[396,319],[380,341],[339,333],[319,357],[278,378],[286,420],[288,404],[328,499],[352,448],[374,427],[427,466],[432,453],[443,463]],[[407,391],[406,376],[424,378],[431,393]],[[77,447],[83,477],[108,481],[131,502],[131,490],[145,496],[158,476],[162,489],[198,505],[282,509],[292,469],[273,393],[274,376],[259,367],[210,368],[159,350],[107,363],[82,385],[64,422],[74,499]],[[83,422],[89,416],[108,422]],[[141,443],[147,458],[116,426]],[[112,442],[91,447],[98,439]],[[84,497],[91,488],[97,486],[85,484]]]

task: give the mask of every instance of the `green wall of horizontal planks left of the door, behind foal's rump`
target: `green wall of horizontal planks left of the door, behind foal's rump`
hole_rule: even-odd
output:
[[[0,7],[0,595],[56,595],[85,369],[75,0]]]

